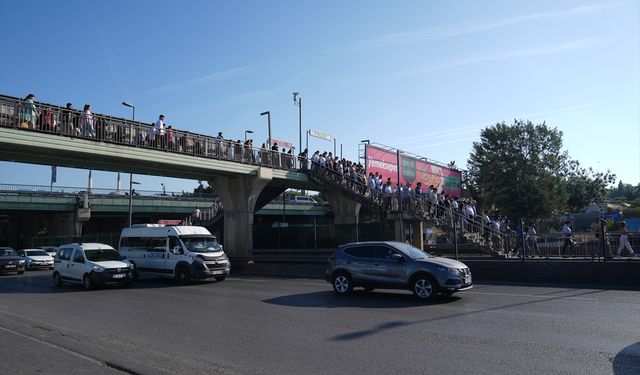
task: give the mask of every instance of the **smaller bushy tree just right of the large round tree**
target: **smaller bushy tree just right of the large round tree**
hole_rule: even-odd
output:
[[[570,160],[565,168],[569,193],[567,209],[572,212],[582,211],[590,203],[602,203],[607,187],[616,180],[616,175],[610,171],[594,172],[592,168],[582,168],[576,160]]]

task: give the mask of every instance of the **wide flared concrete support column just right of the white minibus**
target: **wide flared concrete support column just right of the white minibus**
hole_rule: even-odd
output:
[[[258,176],[216,176],[212,183],[224,204],[224,251],[236,259],[253,251],[253,213],[262,189],[273,179],[273,170],[260,168]]]

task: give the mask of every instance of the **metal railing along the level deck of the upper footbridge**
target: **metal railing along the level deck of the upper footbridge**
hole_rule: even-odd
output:
[[[299,163],[292,153],[252,147],[243,142],[169,128],[168,125],[160,131],[153,123],[89,114],[41,102],[30,103],[6,95],[0,95],[0,127],[285,170],[298,170]]]

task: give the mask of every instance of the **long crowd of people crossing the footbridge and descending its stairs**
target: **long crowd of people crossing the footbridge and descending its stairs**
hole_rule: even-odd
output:
[[[360,163],[340,158],[332,152],[321,153],[318,150],[309,157],[305,149],[296,158],[294,147],[280,149],[275,142],[271,145],[265,142],[260,148],[254,148],[252,139],[244,142],[227,139],[222,132],[210,137],[174,130],[172,125],[165,123],[164,115],[159,115],[158,120],[149,125],[143,125],[95,115],[90,104],[85,104],[80,111],[72,103],[62,108],[36,104],[35,100],[35,95],[29,94],[12,111],[8,111],[3,103],[1,124],[274,168],[310,170],[312,174],[367,199],[386,212],[406,212],[432,219],[437,224],[455,224],[463,232],[478,233],[505,252],[518,256],[523,253],[540,255],[534,223],[527,224],[525,228],[518,226],[514,231],[507,217],[477,210],[476,202],[472,199],[449,196],[439,187],[425,187],[421,182],[399,185],[393,182],[392,177],[385,179],[378,172],[367,174]],[[6,121],[7,113],[17,119],[17,125]],[[575,255],[575,241],[569,224],[565,223],[562,228],[565,239],[561,254],[565,256]],[[635,256],[624,225],[621,231],[618,256],[624,249]]]

